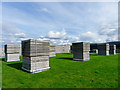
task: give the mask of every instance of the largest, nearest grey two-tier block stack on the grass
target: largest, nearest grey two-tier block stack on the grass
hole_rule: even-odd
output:
[[[49,41],[29,39],[22,41],[22,69],[30,73],[48,70]]]

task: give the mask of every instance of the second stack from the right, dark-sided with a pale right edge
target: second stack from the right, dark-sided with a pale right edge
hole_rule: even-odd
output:
[[[98,55],[109,55],[109,44],[108,43],[100,43],[98,44]]]

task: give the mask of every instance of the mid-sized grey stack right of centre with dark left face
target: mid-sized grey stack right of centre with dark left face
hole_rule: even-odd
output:
[[[89,51],[90,51],[89,42],[72,43],[73,60],[78,61],[89,60],[90,59]]]

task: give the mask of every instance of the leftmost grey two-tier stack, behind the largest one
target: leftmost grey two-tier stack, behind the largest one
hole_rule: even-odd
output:
[[[19,44],[6,44],[5,45],[5,61],[20,61],[20,45]]]

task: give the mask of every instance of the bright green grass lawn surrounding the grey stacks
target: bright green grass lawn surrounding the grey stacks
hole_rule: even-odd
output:
[[[27,73],[22,60],[2,62],[3,88],[117,88],[118,54],[97,56],[89,61],[73,61],[69,53],[50,58],[50,70]],[[22,57],[21,57],[22,59]]]

